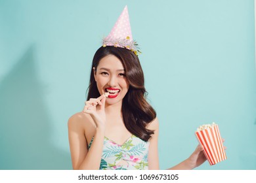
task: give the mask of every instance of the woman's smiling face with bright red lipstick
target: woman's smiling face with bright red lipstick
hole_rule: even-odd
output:
[[[121,61],[114,55],[102,58],[96,71],[94,69],[94,75],[100,95],[105,92],[110,93],[106,103],[109,105],[121,104],[129,89],[129,83],[125,78],[125,69]]]

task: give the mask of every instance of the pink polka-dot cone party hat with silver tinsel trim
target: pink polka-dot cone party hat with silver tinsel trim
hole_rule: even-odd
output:
[[[103,47],[115,46],[133,51],[136,55],[140,52],[138,44],[133,40],[129,21],[128,8],[125,6],[110,34],[102,41]]]

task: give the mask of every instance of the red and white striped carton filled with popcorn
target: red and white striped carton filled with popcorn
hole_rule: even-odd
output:
[[[209,161],[210,165],[215,165],[226,159],[226,152],[223,147],[221,134],[217,124],[207,125],[207,127],[200,127],[196,131],[196,137],[203,147],[203,152]]]

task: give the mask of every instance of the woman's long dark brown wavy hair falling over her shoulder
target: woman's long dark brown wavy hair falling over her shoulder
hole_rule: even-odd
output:
[[[108,55],[116,56],[125,69],[125,76],[129,82],[129,90],[123,98],[121,107],[123,122],[127,130],[143,141],[148,141],[154,131],[146,126],[156,118],[156,111],[146,101],[144,74],[137,55],[126,48],[114,46],[100,47],[95,53],[91,67],[90,84],[87,89],[87,100],[100,96],[94,77],[93,67],[97,69],[100,59]]]

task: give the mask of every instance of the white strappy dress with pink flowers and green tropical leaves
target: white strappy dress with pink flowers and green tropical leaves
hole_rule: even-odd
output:
[[[104,137],[100,170],[147,170],[148,146],[149,142],[135,135],[121,145]]]

